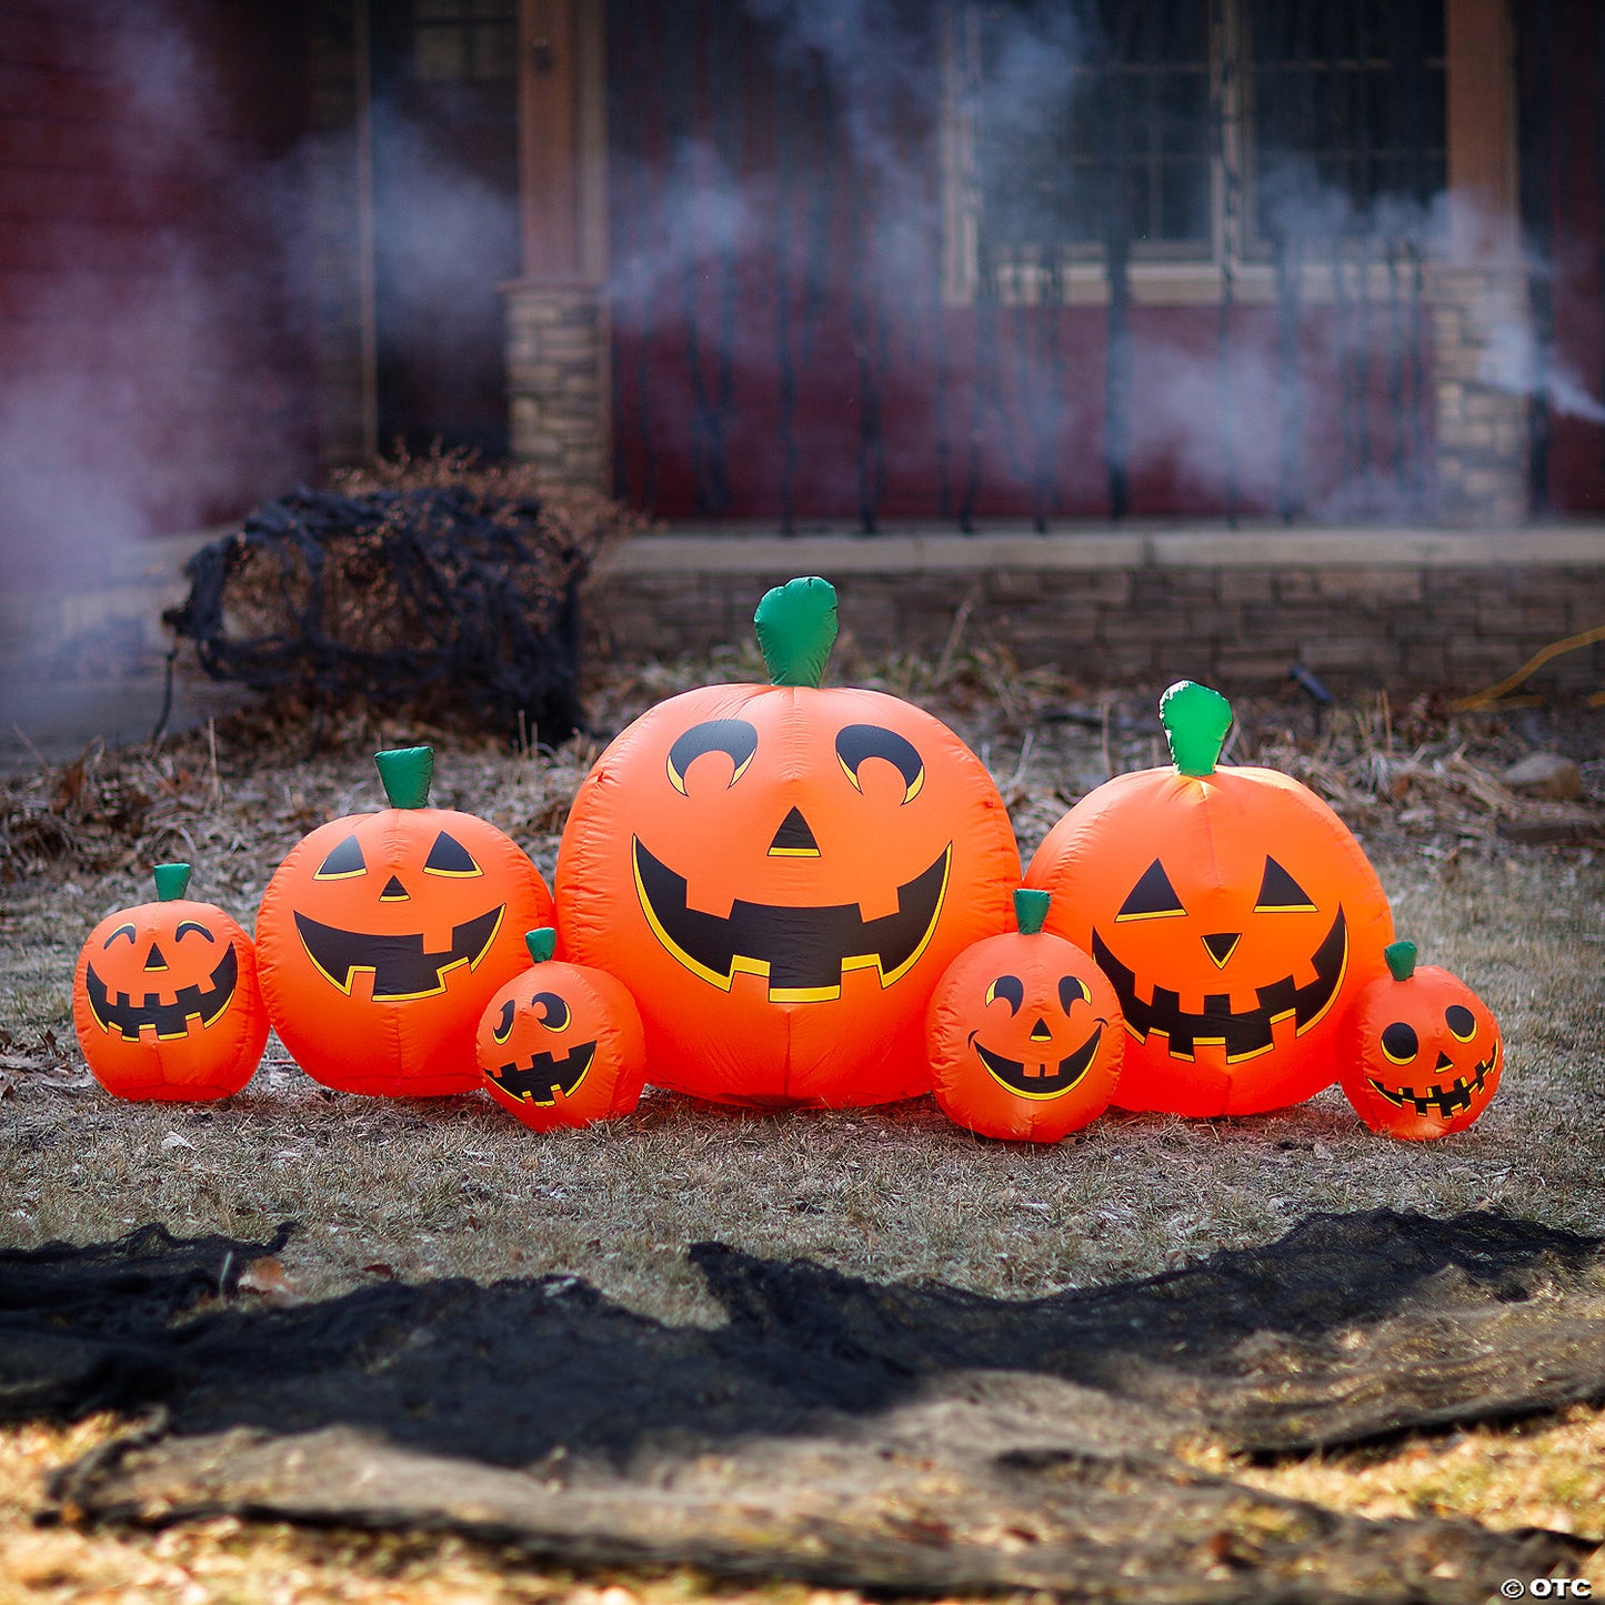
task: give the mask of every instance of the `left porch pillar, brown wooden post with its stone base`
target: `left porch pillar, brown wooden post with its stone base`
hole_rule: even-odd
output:
[[[613,482],[605,6],[520,0],[523,274],[502,286],[515,457],[554,485]]]

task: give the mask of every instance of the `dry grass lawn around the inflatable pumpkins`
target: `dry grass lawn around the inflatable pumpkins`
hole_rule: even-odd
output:
[[[1156,761],[1152,692],[1098,693],[985,653],[844,671],[913,695],[998,777],[1029,857],[1069,801]],[[748,677],[743,655],[600,681],[616,729],[681,685]],[[1157,689],[1154,689],[1157,690]],[[648,1093],[616,1124],[538,1138],[486,1099],[380,1101],[308,1080],[270,1042],[263,1069],[213,1107],[116,1103],[72,1042],[71,971],[106,912],[148,897],[148,867],[194,863],[193,896],[250,923],[279,859],[313,825],[377,806],[377,746],[433,740],[435,801],[496,820],[551,878],[568,798],[599,750],[506,754],[368,716],[305,732],[241,719],[159,751],[88,754],[0,788],[0,1241],[93,1241],[162,1220],[175,1233],[300,1231],[247,1297],[313,1298],[377,1276],[573,1273],[666,1321],[717,1310],[685,1245],[717,1237],[881,1279],[936,1278],[1005,1297],[1141,1276],[1279,1237],[1310,1210],[1444,1215],[1501,1209],[1605,1233],[1605,860],[1514,846],[1497,774],[1533,745],[1570,746],[1605,796],[1605,713],[1444,721],[1239,708],[1231,756],[1292,769],[1366,843],[1401,934],[1465,976],[1499,1016],[1509,1069],[1478,1125],[1438,1144],[1366,1132],[1335,1090],[1276,1115],[1112,1115],[1030,1149],[952,1127],[928,1098],[863,1111],[746,1112]],[[212,1522],[160,1534],[35,1531],[40,1475],[114,1432],[0,1433],[0,1602],[526,1600],[595,1605],[722,1591],[690,1575],[575,1579],[459,1542],[308,1534]],[[1456,1512],[1605,1539],[1605,1417],[1555,1419],[1234,1473],[1374,1515]],[[1599,1558],[1592,1576],[1605,1586]],[[745,1592],[746,1597],[751,1591]],[[802,1600],[780,1587],[774,1599]],[[835,1597],[835,1595],[831,1595]],[[823,1599],[823,1597],[820,1597]],[[843,1597],[847,1599],[847,1597]]]

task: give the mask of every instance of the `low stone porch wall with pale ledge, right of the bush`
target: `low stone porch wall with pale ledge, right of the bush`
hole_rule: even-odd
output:
[[[672,656],[750,639],[770,584],[820,573],[867,652],[1006,647],[1090,679],[1478,689],[1605,624],[1605,530],[1064,536],[644,536],[592,586],[592,650]],[[961,621],[960,621],[961,615]],[[1536,689],[1605,687],[1605,645]]]

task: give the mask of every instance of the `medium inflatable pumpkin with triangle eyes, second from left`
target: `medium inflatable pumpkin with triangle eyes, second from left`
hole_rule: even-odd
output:
[[[388,809],[319,825],[262,899],[268,1016],[326,1087],[430,1098],[478,1087],[473,1029],[546,924],[541,872],[488,820],[429,806],[433,753],[376,758]]]

